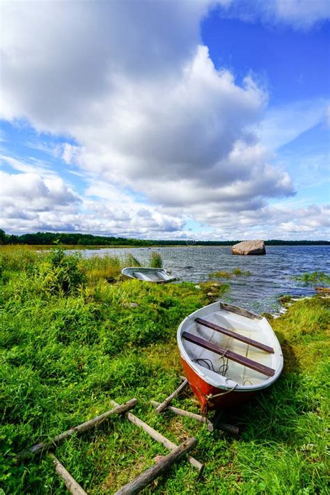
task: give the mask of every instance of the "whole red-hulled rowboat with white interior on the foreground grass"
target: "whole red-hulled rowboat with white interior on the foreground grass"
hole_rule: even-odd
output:
[[[283,369],[281,346],[266,318],[219,301],[182,321],[178,347],[203,413],[251,398]]]

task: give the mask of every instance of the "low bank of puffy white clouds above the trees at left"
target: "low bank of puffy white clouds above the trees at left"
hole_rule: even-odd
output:
[[[182,218],[134,201],[116,187],[106,187],[100,199],[104,184],[91,184],[84,198],[54,174],[0,171],[0,184],[0,224],[9,232],[60,230],[155,238],[184,226]]]

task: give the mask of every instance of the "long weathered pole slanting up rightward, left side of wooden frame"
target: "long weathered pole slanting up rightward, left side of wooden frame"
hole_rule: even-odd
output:
[[[67,439],[68,437],[71,437],[74,433],[79,434],[82,432],[86,432],[86,430],[90,430],[91,428],[100,425],[102,421],[109,418],[109,416],[111,416],[112,414],[121,414],[123,412],[126,412],[128,409],[132,409],[132,407],[134,407],[136,404],[136,399],[131,399],[128,402],[125,402],[125,404],[116,404],[116,407],[114,409],[111,409],[111,411],[100,414],[100,416],[96,416],[89,421],[85,421],[85,423],[81,423],[81,425],[74,426],[73,428],[70,428],[70,430],[56,435],[56,437],[54,437],[52,440],[49,440],[48,442],[37,443],[37,445],[34,445],[28,450],[25,450],[23,453],[17,455],[17,459],[21,459],[22,457],[26,457],[28,455],[40,453],[42,450],[47,449],[51,446],[57,446],[58,443]]]

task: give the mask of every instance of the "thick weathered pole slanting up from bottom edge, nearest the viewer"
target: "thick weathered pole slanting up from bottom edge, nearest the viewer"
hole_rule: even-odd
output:
[[[155,466],[152,466],[144,471],[144,473],[141,473],[140,476],[127,483],[127,485],[118,490],[114,495],[133,495],[141,492],[141,490],[155,480],[157,476],[164,473],[166,469],[177,462],[182,455],[194,448],[195,444],[196,439],[194,437],[184,441],[180,446],[175,447],[171,453],[166,455],[166,457],[163,457],[158,464],[155,464]]]

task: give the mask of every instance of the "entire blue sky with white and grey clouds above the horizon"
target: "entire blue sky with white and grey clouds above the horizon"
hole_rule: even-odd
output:
[[[0,227],[329,239],[329,10],[3,1]]]

